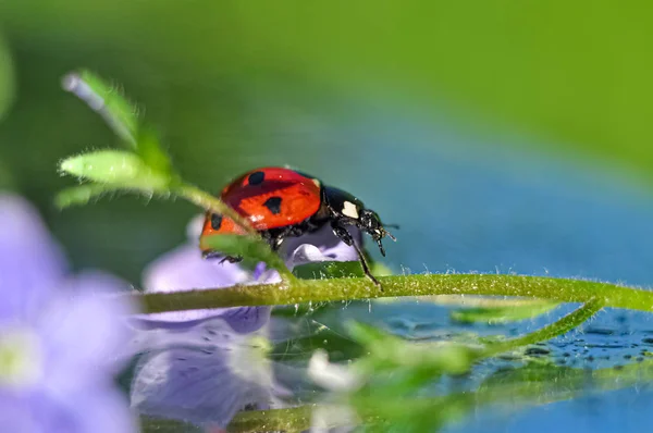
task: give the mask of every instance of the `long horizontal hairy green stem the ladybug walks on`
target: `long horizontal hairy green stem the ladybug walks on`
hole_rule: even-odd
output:
[[[382,289],[368,279],[331,279],[130,296],[141,302],[145,312],[426,295],[519,296],[562,302],[596,299],[605,307],[653,311],[653,292],[591,281],[495,274],[397,275],[379,281]]]

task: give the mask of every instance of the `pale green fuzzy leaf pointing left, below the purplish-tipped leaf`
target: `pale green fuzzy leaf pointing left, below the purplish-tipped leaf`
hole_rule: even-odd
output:
[[[119,188],[165,190],[169,174],[161,174],[128,151],[99,150],[70,157],[61,161],[59,169],[83,180],[94,181]]]

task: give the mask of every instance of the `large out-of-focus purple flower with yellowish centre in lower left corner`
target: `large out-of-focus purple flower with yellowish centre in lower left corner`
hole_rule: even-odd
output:
[[[36,211],[0,195],[0,425],[7,432],[130,432],[113,385],[134,312],[101,273],[66,274]]]

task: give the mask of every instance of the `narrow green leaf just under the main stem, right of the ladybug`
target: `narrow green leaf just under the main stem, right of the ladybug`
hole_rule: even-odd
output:
[[[530,300],[515,306],[464,308],[452,311],[451,318],[461,323],[484,322],[501,324],[518,320],[531,319],[556,308],[557,302],[546,300]]]

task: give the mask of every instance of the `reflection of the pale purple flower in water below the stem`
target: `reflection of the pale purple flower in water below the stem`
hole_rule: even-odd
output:
[[[272,373],[260,337],[220,323],[196,329],[200,338],[186,347],[146,356],[134,374],[132,405],[144,415],[221,428],[245,407],[269,407]]]

